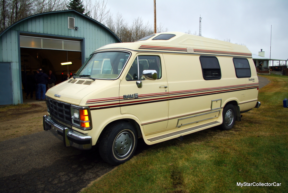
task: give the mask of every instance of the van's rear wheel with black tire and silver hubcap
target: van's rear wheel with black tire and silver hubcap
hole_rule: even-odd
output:
[[[222,119],[223,119],[223,122],[220,125],[221,129],[222,130],[232,129],[236,120],[236,110],[233,104],[227,104],[224,107],[223,112],[222,112]]]

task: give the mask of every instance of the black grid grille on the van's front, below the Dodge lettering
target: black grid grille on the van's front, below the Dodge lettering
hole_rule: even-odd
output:
[[[53,119],[71,125],[70,104],[56,101],[46,96],[48,112]]]

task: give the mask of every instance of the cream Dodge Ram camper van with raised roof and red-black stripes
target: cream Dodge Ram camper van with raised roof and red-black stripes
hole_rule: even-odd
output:
[[[66,147],[99,144],[110,164],[130,159],[138,138],[155,144],[219,125],[231,129],[257,102],[251,52],[180,32],[94,51],[73,78],[46,93],[50,130]]]

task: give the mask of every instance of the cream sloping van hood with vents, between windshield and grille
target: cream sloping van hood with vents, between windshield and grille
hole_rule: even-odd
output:
[[[101,91],[101,87],[113,84],[117,80],[91,80],[86,78],[76,78],[64,81],[53,86],[46,92],[46,96],[66,102],[69,104],[79,105],[81,100],[93,91]]]

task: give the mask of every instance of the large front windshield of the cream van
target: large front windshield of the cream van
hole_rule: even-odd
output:
[[[120,51],[98,52],[90,56],[77,76],[95,79],[117,79],[121,74],[130,53]]]

